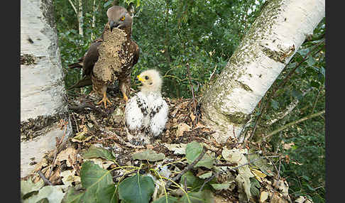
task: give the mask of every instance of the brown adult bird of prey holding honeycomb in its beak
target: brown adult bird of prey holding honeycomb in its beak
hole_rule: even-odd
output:
[[[106,97],[107,86],[119,81],[119,89],[125,101],[131,88],[131,68],[138,62],[139,48],[131,39],[133,19],[122,6],[111,6],[106,12],[108,23],[100,38],[89,46],[79,62],[68,67],[82,67],[83,78],[73,85],[84,87],[92,84],[92,90],[103,97],[97,104],[111,104]]]

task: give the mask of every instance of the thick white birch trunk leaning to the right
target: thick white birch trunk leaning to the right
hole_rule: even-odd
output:
[[[324,0],[265,3],[261,15],[202,99],[204,120],[215,129],[216,141],[239,138],[265,92],[324,18],[324,10]]]

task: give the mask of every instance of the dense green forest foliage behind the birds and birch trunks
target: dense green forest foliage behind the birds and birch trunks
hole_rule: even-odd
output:
[[[70,3],[53,2],[65,86],[68,88],[81,79],[81,72],[68,70],[67,65],[82,57],[89,43],[102,33],[107,21],[105,13],[112,1],[95,1],[96,11],[92,9],[93,1],[82,1],[83,36],[78,33],[77,15]],[[77,1],[72,2],[78,6]],[[119,1],[119,5],[127,7],[130,2]],[[163,94],[166,97],[187,98],[192,97],[187,64],[190,65],[192,87],[200,95],[202,89],[212,82],[212,73],[212,78],[217,77],[225,67],[241,38],[259,15],[264,0],[136,0],[133,3],[136,5],[136,13],[132,38],[141,49],[139,61],[133,68],[133,79],[142,70],[155,68],[163,75]],[[91,26],[93,16],[96,20],[94,28]],[[92,33],[94,38],[91,37]],[[325,109],[324,33],[323,20],[258,104],[253,112],[254,121],[246,129],[252,131],[256,118],[261,117],[258,119],[254,140]],[[292,75],[289,76],[291,71]],[[87,87],[82,92],[90,90]],[[303,97],[302,93],[307,90]],[[273,92],[274,97],[270,97]],[[270,126],[265,125],[296,99],[299,103],[288,116]],[[268,107],[264,108],[266,104]],[[290,157],[290,163],[282,163],[280,169],[281,175],[288,178],[290,194],[309,195],[314,202],[324,202],[324,136],[324,116],[317,116],[285,128],[271,137],[269,142],[273,146],[272,150]],[[292,143],[291,148],[284,147],[284,143]]]

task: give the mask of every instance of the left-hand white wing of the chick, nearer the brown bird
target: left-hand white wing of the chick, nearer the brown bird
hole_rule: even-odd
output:
[[[143,125],[144,118],[148,115],[148,101],[141,92],[128,100],[125,109],[126,126],[130,131],[136,131]]]

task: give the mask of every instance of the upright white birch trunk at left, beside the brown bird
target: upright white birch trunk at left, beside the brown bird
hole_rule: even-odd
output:
[[[21,1],[21,177],[72,132],[52,1]]]

